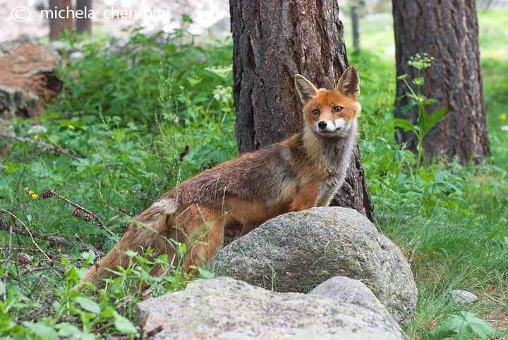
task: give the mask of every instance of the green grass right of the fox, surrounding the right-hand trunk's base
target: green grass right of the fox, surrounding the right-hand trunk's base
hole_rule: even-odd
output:
[[[485,107],[492,157],[478,166],[433,164],[426,175],[413,177],[406,166],[411,155],[393,145],[394,56],[392,40],[375,28],[391,18],[376,16],[363,25],[362,51],[349,56],[361,72],[363,118],[361,151],[368,186],[375,202],[377,227],[409,256],[418,305],[406,331],[421,339],[447,314],[475,312],[497,328],[496,339],[508,337],[506,308],[483,293],[507,303],[508,279],[508,11],[479,11]],[[346,24],[345,27],[347,28]],[[373,31],[371,31],[373,30]],[[375,37],[375,39],[371,39]],[[388,39],[388,38],[387,38]],[[391,39],[391,38],[390,38]],[[351,37],[346,34],[346,44]],[[382,47],[377,51],[376,47]],[[365,89],[366,87],[366,89]],[[477,303],[457,305],[448,292],[464,289]]]

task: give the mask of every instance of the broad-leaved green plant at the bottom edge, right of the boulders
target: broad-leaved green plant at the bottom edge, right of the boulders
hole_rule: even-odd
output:
[[[480,339],[487,339],[496,334],[497,332],[492,328],[490,322],[478,319],[474,313],[462,311],[458,315],[447,315],[425,336],[425,340],[464,340],[473,335],[480,337]]]

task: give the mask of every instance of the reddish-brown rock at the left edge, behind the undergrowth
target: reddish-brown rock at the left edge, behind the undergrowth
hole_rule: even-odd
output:
[[[58,95],[63,83],[54,73],[59,54],[39,42],[0,43],[0,119],[35,117],[45,102]]]

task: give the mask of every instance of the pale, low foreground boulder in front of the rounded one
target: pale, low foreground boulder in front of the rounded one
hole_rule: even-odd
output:
[[[153,339],[407,339],[365,285],[336,279],[310,294],[276,293],[229,277],[200,279],[138,303],[138,323],[145,332],[162,326]],[[335,294],[341,285],[353,292],[348,301]]]

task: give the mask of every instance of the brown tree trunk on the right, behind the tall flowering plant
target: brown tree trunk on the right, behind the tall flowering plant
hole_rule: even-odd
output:
[[[447,107],[446,118],[423,139],[429,157],[444,153],[447,159],[459,157],[462,164],[490,155],[485,121],[485,101],[478,51],[478,20],[473,0],[393,0],[397,76],[412,80],[418,71],[408,66],[409,57],[428,53],[435,59],[425,68],[422,94],[437,99],[427,107],[429,114]],[[397,98],[408,94],[397,82]],[[409,98],[396,99],[396,117]],[[406,114],[416,123],[417,107]],[[418,139],[411,131],[397,132],[397,142],[407,142],[416,153]]]

